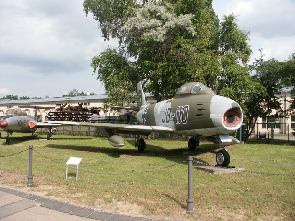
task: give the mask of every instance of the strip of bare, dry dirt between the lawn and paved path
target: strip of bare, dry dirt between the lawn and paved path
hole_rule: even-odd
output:
[[[197,208],[197,199],[194,204],[194,215],[186,214],[186,205],[173,206],[168,204],[165,210],[159,209],[161,202],[153,202],[142,199],[141,203],[132,203],[132,197],[126,193],[126,197],[120,200],[111,198],[110,196],[98,195],[95,202],[87,202],[82,199],[83,193],[75,192],[68,194],[66,186],[45,185],[46,177],[34,177],[35,183],[33,187],[27,187],[27,176],[24,174],[14,174],[0,171],[0,183],[8,187],[18,189],[23,192],[29,192],[40,196],[46,196],[53,199],[60,199],[65,202],[74,202],[79,205],[88,205],[91,208],[102,208],[106,211],[113,211],[124,214],[146,215],[149,217],[159,217],[166,220],[289,220],[288,217],[249,217],[247,211],[238,210],[230,211],[228,208],[214,208],[200,210]],[[54,193],[54,195],[53,195]],[[172,206],[172,207],[171,207]],[[163,208],[163,207],[161,207]]]

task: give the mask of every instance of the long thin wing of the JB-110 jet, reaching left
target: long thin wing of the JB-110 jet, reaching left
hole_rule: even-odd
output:
[[[88,122],[72,122],[72,121],[45,121],[45,122],[60,124],[60,125],[68,125],[68,126],[86,126],[86,127],[97,127],[97,128],[104,128],[104,129],[118,129],[119,130],[118,133],[127,133],[128,131],[169,133],[173,131],[172,128],[165,127],[165,126],[148,126],[148,125],[119,124],[119,123],[88,123]]]

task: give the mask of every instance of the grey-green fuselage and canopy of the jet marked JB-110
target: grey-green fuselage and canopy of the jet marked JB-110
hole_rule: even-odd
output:
[[[166,126],[172,129],[169,133],[188,136],[229,134],[240,128],[243,114],[234,100],[218,96],[198,82],[183,87],[185,90],[180,88],[173,99],[141,108],[137,121]]]

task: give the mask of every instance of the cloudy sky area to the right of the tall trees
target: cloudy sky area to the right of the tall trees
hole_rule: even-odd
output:
[[[239,28],[250,31],[253,55],[250,63],[260,57],[258,49],[263,49],[264,59],[288,59],[295,52],[295,1],[292,0],[228,0],[213,1],[213,8],[219,19],[223,15],[235,13]]]

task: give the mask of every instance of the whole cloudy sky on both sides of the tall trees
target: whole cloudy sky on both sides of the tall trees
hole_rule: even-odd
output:
[[[250,31],[251,62],[288,59],[295,52],[295,0],[214,0],[219,19],[238,15]],[[0,1],[0,98],[60,97],[73,88],[103,94],[91,58],[116,41],[104,42],[98,23],[85,16],[83,0]]]

